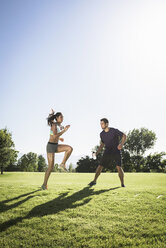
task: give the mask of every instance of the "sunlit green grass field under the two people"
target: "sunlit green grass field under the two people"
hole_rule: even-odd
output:
[[[5,172],[0,176],[0,247],[166,247],[166,175]]]

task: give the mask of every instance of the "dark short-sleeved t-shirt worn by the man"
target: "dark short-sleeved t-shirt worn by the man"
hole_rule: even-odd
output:
[[[105,144],[105,152],[120,152],[117,146],[119,145],[119,141],[122,138],[123,133],[118,129],[109,128],[108,132],[104,130],[100,133],[101,141]]]

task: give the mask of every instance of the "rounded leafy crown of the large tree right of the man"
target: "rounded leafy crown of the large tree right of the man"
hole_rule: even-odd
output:
[[[131,155],[143,155],[146,150],[154,146],[156,139],[156,134],[146,128],[133,129],[127,134],[125,149]]]

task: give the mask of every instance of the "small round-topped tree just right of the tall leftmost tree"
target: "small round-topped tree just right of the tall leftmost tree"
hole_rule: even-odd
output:
[[[37,168],[38,159],[36,153],[29,152],[18,160],[18,169],[20,171],[37,171]]]

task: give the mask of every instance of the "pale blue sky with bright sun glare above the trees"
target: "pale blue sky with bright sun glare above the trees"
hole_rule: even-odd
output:
[[[165,13],[161,0],[0,0],[0,128],[16,149],[46,153],[54,108],[73,156],[91,154],[103,117],[153,130],[165,151]]]

